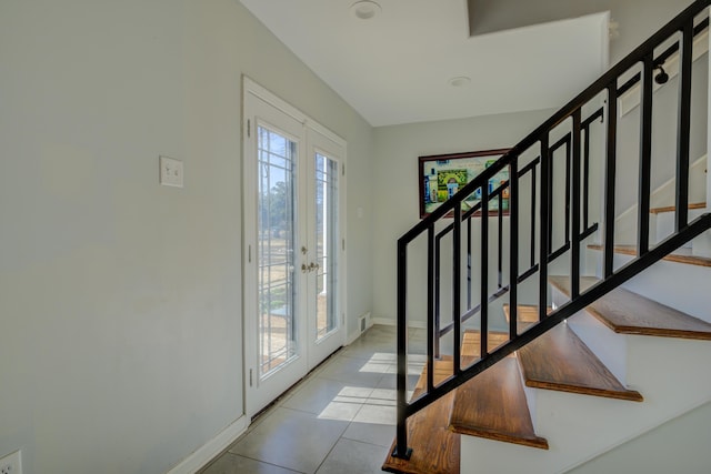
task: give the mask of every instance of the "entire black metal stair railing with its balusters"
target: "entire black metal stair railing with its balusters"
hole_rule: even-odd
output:
[[[393,456],[409,458],[411,450],[407,443],[407,420],[430,403],[444,396],[450,391],[471,380],[477,374],[499,362],[513,351],[530,343],[545,331],[550,330],[567,317],[583,310],[587,305],[612,291],[614,288],[624,283],[627,280],[637,275],[644,269],[649,268],[673,250],[682,245],[684,242],[693,239],[702,232],[711,229],[711,214],[704,214],[693,222],[688,222],[687,208],[689,204],[689,152],[690,152],[690,131],[691,131],[691,68],[692,68],[692,42],[693,37],[703,29],[708,28],[708,18],[701,20],[694,26],[695,17],[709,7],[711,0],[697,0],[688,7],[683,12],[672,19],[662,27],[649,40],[643,42],[639,48],[633,50],[617,65],[611,68],[600,79],[593,82],[588,89],[578,94],[573,100],[561,108],[550,119],[538,127],[533,132],[527,135],[521,142],[510,149],[500,160],[487,168],[481,174],[472,180],[448,201],[442,203],[438,209],[432,211],[428,218],[420,221],[412,229],[405,232],[398,240],[398,424],[397,424],[397,442]],[[668,41],[670,38],[679,33],[679,41],[672,47],[665,49],[662,53],[654,57],[654,49]],[[679,80],[679,110],[678,110],[678,147],[677,147],[677,220],[675,232],[663,242],[650,248],[647,236],[638,239],[638,258],[629,262],[627,265],[613,268],[613,245],[614,245],[614,188],[615,188],[615,170],[617,170],[617,131],[618,131],[618,98],[624,93],[634,83],[641,82],[642,101],[641,101],[641,122],[640,122],[640,203],[638,208],[640,230],[647,229],[642,223],[644,219],[649,219],[649,188],[650,188],[650,168],[651,168],[651,120],[652,120],[652,71],[662,64],[671,54],[679,51],[680,54],[680,80]],[[642,63],[642,72],[637,73],[622,87],[618,84],[619,78],[630,72],[635,64]],[[635,79],[637,78],[637,79]],[[630,85],[631,84],[631,85]],[[605,93],[607,92],[607,93]],[[595,98],[607,97],[607,103],[602,109],[595,110],[588,118],[582,118],[583,107],[592,103]],[[598,120],[605,120],[604,135],[604,163],[605,172],[604,181],[604,203],[602,209],[603,226],[602,235],[604,239],[603,249],[603,280],[598,284],[589,288],[584,292],[580,291],[580,246],[582,241],[598,230],[597,223],[590,223],[588,195],[590,190],[590,133],[591,124]],[[570,119],[571,131],[561,139],[561,141],[550,144],[550,134],[559,125]],[[522,155],[534,147],[540,148],[538,158],[521,165]],[[565,147],[565,242],[561,249],[552,250],[552,155],[560,148]],[[582,162],[581,162],[582,161]],[[540,172],[537,173],[537,167],[540,165]],[[489,190],[489,181],[497,173],[510,167],[509,181],[501,183],[497,189]],[[523,273],[519,269],[519,226],[521,215],[521,195],[519,181],[525,174],[531,175],[531,189],[533,199],[531,205],[531,260],[530,268]],[[537,180],[538,174],[538,180]],[[581,175],[582,174],[582,175]],[[538,184],[537,184],[538,182]],[[509,229],[510,229],[510,249],[509,249],[509,284],[504,285],[501,278],[502,264],[502,239],[503,233],[503,213],[502,213],[502,195],[509,191]],[[463,211],[462,203],[474,191],[481,193],[480,202]],[[581,196],[582,192],[582,196]],[[489,294],[489,202],[498,200],[498,211],[494,213],[498,219],[499,245],[498,251],[498,290],[493,294]],[[537,208],[538,203],[538,208]],[[537,212],[538,211],[538,212]],[[481,304],[471,307],[471,261],[472,261],[472,228],[471,219],[477,215],[481,216],[481,255],[479,266],[481,269]],[[582,215],[581,215],[582,214]],[[453,222],[445,225],[440,232],[435,232],[437,223],[447,215],[453,216]],[[538,219],[538,221],[537,221]],[[467,310],[461,309],[461,252],[462,252],[462,232],[463,221],[467,220]],[[538,245],[535,241],[535,230],[538,229]],[[428,291],[427,291],[427,317],[428,317],[428,356],[427,356],[427,390],[422,391],[420,396],[412,401],[407,401],[407,322],[408,322],[408,299],[407,299],[407,271],[408,271],[408,245],[423,232],[427,232],[427,250],[428,250]],[[452,322],[444,327],[440,327],[440,243],[442,238],[452,233]],[[534,250],[538,248],[538,255]],[[548,264],[558,256],[571,251],[571,299],[568,303],[559,306],[550,314],[548,307]],[[535,263],[538,256],[538,263]],[[437,269],[435,271],[433,269]],[[538,307],[539,322],[530,326],[525,332],[519,334],[517,329],[517,309],[519,301],[518,285],[523,280],[538,273],[539,291]],[[492,352],[487,347],[488,341],[488,302],[495,300],[503,294],[509,294],[510,303],[510,323],[509,323],[509,342],[500,345]],[[460,341],[462,334],[462,322],[467,317],[471,317],[477,312],[481,317],[481,359],[474,364],[462,367]],[[435,356],[439,356],[439,339],[442,334],[453,331],[453,371],[452,375],[439,383],[434,384],[433,364]]]

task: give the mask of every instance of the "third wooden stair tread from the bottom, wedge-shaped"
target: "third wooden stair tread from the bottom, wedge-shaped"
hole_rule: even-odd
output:
[[[612,375],[568,324],[559,324],[518,352],[527,386],[641,402]]]

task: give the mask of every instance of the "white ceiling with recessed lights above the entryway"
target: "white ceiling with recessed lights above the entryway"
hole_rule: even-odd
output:
[[[373,127],[560,107],[607,67],[607,12],[549,21],[537,7],[545,22],[521,27],[532,2],[507,0],[520,4],[514,28],[499,16],[470,36],[467,0],[377,1],[363,20],[356,0],[241,0]]]

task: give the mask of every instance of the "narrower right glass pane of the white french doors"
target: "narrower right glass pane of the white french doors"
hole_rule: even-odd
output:
[[[316,154],[317,340],[337,327],[338,163]]]

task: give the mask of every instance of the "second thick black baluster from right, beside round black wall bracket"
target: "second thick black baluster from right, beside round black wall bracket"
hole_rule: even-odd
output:
[[[649,208],[652,175],[652,75],[654,62],[652,53],[642,61],[642,97],[640,120],[640,185],[637,224],[637,252],[649,252]]]

